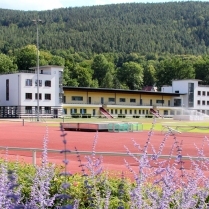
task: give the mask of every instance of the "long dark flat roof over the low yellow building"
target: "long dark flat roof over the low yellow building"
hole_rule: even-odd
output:
[[[131,93],[131,94],[146,94],[146,95],[164,95],[164,96],[180,96],[185,94],[166,93],[160,91],[145,91],[145,90],[127,90],[127,89],[111,89],[111,88],[91,88],[91,87],[73,87],[63,86],[64,91],[86,91],[86,92],[105,92],[105,93]]]

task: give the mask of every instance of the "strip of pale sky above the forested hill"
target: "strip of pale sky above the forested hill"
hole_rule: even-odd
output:
[[[66,7],[82,7],[131,2],[157,3],[176,0],[0,0],[0,8],[13,10],[52,10]],[[208,1],[208,0],[203,0]]]

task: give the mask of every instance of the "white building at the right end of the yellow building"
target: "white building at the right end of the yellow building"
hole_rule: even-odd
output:
[[[182,94],[179,98],[173,98],[174,106],[197,110],[209,115],[209,86],[199,85],[200,81],[197,79],[173,80],[172,86],[163,86],[161,91]]]

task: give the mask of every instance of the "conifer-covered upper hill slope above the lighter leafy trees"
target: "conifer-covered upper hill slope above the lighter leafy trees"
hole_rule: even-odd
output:
[[[36,44],[82,52],[204,54],[209,52],[209,2],[131,3],[51,11],[0,9],[0,51]]]

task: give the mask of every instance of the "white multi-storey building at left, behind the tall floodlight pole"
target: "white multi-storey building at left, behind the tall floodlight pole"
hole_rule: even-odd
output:
[[[32,117],[37,115],[37,106],[40,114],[58,117],[62,114],[62,77],[60,66],[40,66],[39,82],[36,67],[27,72],[1,75],[0,117]]]

